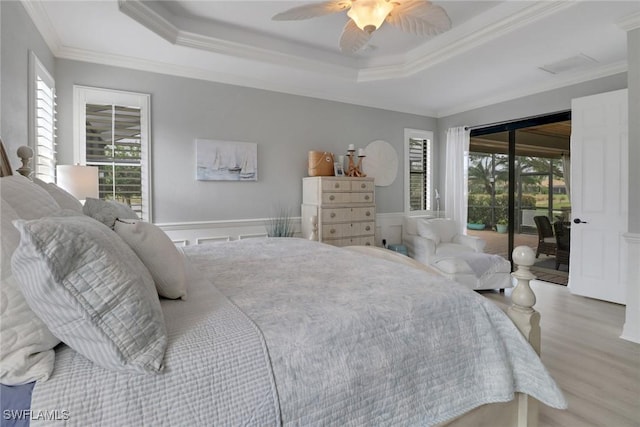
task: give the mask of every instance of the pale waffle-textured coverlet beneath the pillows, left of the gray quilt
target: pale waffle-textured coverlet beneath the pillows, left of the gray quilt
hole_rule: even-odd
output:
[[[163,373],[106,370],[63,346],[53,375],[33,390],[31,425],[280,424],[264,340],[246,315],[193,273],[188,299],[162,300],[162,310]]]

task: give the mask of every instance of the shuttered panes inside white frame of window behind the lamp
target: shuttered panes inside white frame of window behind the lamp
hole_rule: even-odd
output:
[[[141,109],[86,104],[86,164],[99,169],[99,197],[126,203],[141,217]]]

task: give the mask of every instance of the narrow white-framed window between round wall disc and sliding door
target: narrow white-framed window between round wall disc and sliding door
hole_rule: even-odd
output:
[[[405,212],[431,210],[433,132],[405,129]]]

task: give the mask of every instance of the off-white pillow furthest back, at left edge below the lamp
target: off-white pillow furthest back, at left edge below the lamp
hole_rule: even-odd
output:
[[[22,219],[42,218],[60,210],[49,193],[22,175],[0,179],[0,195]]]

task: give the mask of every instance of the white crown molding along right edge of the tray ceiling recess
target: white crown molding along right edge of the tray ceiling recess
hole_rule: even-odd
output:
[[[458,55],[462,55],[471,49],[486,44],[505,34],[525,27],[532,22],[572,7],[577,4],[577,1],[578,0],[555,0],[535,2],[531,6],[504,16],[502,19],[495,20],[489,25],[474,26],[473,28],[471,28],[471,26],[464,26],[463,28],[468,29],[466,29],[464,33],[456,35],[455,38],[448,41],[448,43],[439,43],[438,46],[429,47],[428,49],[416,49],[412,54],[413,59],[398,64],[361,69],[358,72],[358,82],[409,77]],[[455,31],[450,32],[453,34]],[[447,38],[447,33],[442,34],[440,37],[443,39]]]

